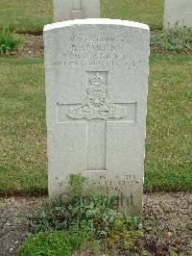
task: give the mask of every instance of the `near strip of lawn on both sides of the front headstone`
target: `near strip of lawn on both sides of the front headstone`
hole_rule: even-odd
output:
[[[191,66],[151,56],[146,191],[192,191]],[[0,192],[46,192],[43,60],[1,58],[0,70]]]

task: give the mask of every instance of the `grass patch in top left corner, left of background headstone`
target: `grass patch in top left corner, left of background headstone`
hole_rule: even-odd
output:
[[[10,25],[15,31],[38,31],[52,20],[52,0],[1,0],[0,28]]]

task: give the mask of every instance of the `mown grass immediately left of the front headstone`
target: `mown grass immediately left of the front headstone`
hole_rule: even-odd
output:
[[[47,191],[42,60],[1,58],[0,191]]]

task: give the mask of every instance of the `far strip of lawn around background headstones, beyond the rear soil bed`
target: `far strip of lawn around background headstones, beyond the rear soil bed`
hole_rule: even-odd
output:
[[[101,16],[130,19],[162,28],[164,0],[101,0]],[[0,28],[39,31],[53,22],[53,0],[1,0]]]

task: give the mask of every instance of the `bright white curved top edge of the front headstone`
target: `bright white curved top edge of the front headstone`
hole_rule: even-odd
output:
[[[119,26],[133,27],[133,28],[150,31],[150,28],[147,24],[138,23],[138,22],[129,21],[129,20],[110,19],[110,18],[87,18],[87,19],[61,21],[61,22],[45,25],[43,31],[46,32],[54,29],[71,27],[75,25],[119,25]]]

